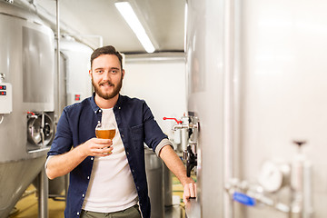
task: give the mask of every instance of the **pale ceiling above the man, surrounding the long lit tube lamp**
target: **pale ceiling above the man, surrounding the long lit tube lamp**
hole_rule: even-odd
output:
[[[183,52],[186,0],[129,0],[154,40],[155,52]],[[145,50],[114,6],[116,0],[59,0],[61,34],[65,32],[93,48],[114,45],[124,54]],[[35,1],[36,8],[56,14],[56,1]],[[65,28],[64,28],[65,27]]]

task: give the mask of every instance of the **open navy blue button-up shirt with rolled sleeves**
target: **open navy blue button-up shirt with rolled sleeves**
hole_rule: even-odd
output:
[[[145,175],[144,143],[155,151],[156,146],[167,136],[143,100],[119,95],[114,105],[114,115],[133,174],[141,212],[144,218],[148,218],[150,199]],[[95,104],[94,94],[81,103],[65,107],[48,156],[67,153],[72,147],[94,138],[95,126],[101,118],[102,110]],[[64,217],[79,217],[81,214],[93,163],[94,156],[88,156],[70,173]]]

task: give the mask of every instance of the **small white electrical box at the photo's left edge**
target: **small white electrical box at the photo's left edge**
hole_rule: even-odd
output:
[[[12,85],[0,83],[0,114],[10,114],[13,111]]]

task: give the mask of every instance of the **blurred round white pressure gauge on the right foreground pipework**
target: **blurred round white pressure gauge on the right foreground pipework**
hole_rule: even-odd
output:
[[[261,167],[258,182],[263,186],[263,190],[274,193],[280,190],[289,177],[290,166],[284,163],[266,161]]]

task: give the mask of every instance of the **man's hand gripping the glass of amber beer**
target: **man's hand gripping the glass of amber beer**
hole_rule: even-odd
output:
[[[113,141],[110,139],[92,138],[80,145],[84,156],[108,156],[113,151]]]

